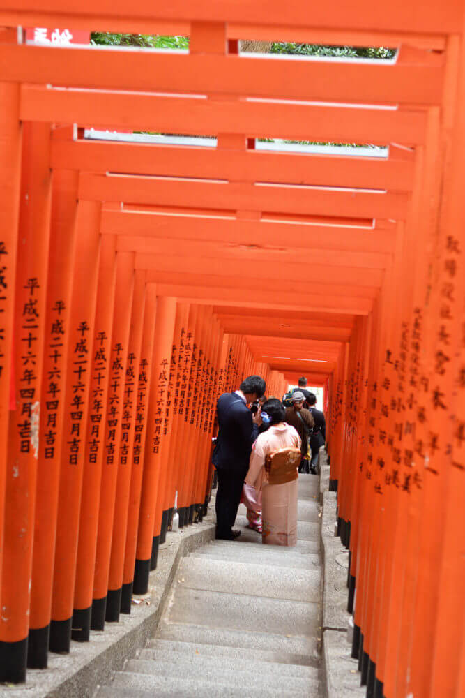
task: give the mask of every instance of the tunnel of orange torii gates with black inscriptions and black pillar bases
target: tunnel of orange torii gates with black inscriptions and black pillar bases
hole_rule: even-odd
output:
[[[218,394],[258,373],[324,390],[376,695],[464,696],[463,1],[3,0],[0,26],[0,681],[130,612],[175,492],[204,514]]]

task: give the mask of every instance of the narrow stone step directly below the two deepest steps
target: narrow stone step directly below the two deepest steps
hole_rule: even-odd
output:
[[[295,632],[281,634],[261,632],[260,630],[235,630],[229,628],[208,628],[206,625],[192,623],[167,623],[164,619],[158,626],[157,639],[195,642],[222,647],[235,647],[252,650],[265,650],[284,655],[299,655],[303,660],[318,660],[317,638],[321,628],[313,636],[299,635]]]

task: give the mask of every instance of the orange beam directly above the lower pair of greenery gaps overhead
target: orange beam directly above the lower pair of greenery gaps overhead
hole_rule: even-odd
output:
[[[21,118],[96,128],[162,133],[241,133],[257,138],[321,142],[422,144],[422,110],[330,107],[286,101],[215,101],[139,92],[66,89],[22,84]]]

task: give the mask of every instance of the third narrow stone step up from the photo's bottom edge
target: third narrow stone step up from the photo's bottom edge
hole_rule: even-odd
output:
[[[259,675],[274,675],[274,676],[300,676],[300,678],[318,679],[318,669],[314,667],[303,666],[302,664],[282,664],[280,662],[261,662],[255,659],[254,652],[247,650],[248,658],[241,658],[240,661],[236,657],[231,657],[227,654],[222,655],[201,655],[200,653],[180,653],[170,652],[168,655],[164,650],[147,648],[142,650],[138,660],[153,662],[154,664],[169,664],[171,667],[179,669],[179,674],[182,676],[188,675],[188,670],[203,671],[204,669],[216,669],[221,667],[227,671],[252,671]],[[171,660],[171,661],[170,661]]]

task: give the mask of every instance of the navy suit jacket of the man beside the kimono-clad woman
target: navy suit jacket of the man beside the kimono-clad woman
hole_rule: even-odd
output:
[[[213,464],[219,469],[247,472],[252,443],[258,433],[252,413],[236,393],[220,395],[216,410],[218,438],[213,451]]]

